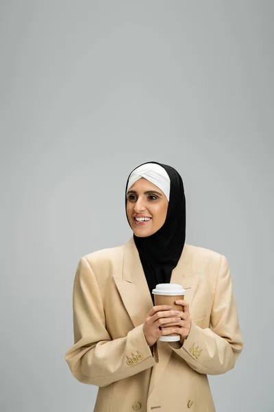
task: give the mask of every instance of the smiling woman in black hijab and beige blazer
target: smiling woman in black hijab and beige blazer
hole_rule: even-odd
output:
[[[66,362],[99,387],[95,412],[214,412],[207,375],[232,369],[242,351],[227,259],[185,243],[184,186],[170,166],[138,166],[125,203],[134,236],[77,266]],[[184,311],[153,306],[160,283],[184,286]],[[158,341],[174,332],[179,342]]]

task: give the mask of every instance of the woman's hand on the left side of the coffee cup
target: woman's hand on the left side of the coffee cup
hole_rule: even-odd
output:
[[[181,321],[182,319],[178,317],[178,314],[179,310],[171,310],[171,306],[153,306],[142,327],[147,345],[153,346],[160,336],[173,333],[170,328],[160,330],[160,327],[167,323]]]

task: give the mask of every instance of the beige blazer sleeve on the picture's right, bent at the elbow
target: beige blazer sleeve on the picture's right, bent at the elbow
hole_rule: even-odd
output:
[[[218,375],[232,369],[242,352],[242,336],[238,324],[232,279],[225,256],[216,279],[210,327],[199,328],[194,322],[190,334],[181,347],[171,343],[172,349],[192,369],[200,374]]]

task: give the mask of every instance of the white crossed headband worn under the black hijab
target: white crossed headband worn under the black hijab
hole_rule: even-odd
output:
[[[127,185],[127,190],[134,185],[136,181],[141,178],[147,179],[147,181],[153,183],[153,185],[159,187],[162,192],[166,195],[167,200],[169,201],[169,194],[171,190],[171,179],[166,170],[157,163],[145,163],[145,165],[139,166],[135,169],[132,174],[129,176],[129,183]]]

